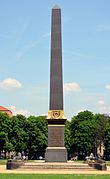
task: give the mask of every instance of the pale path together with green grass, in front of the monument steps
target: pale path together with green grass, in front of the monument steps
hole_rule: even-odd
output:
[[[33,170],[33,169],[15,169],[6,170],[6,161],[0,162],[0,179],[109,179],[110,178],[110,162],[107,162],[107,170]]]

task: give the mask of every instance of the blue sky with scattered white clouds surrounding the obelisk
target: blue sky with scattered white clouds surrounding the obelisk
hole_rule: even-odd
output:
[[[109,0],[0,0],[0,105],[47,115],[55,4],[62,10],[65,116],[110,113]]]

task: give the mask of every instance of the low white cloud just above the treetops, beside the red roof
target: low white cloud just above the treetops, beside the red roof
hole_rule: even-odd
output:
[[[15,106],[10,106],[9,109],[12,111],[13,115],[22,114],[24,116],[30,116],[31,112],[27,109],[16,109]]]

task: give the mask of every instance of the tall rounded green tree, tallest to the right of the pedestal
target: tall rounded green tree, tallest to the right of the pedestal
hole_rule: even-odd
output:
[[[93,152],[94,115],[90,111],[79,112],[71,121],[71,153],[83,158]]]

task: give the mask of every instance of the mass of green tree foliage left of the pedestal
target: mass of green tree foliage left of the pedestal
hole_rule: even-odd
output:
[[[9,117],[0,113],[0,152],[24,152],[32,157],[44,156],[47,147],[47,121],[45,116],[26,118]]]

